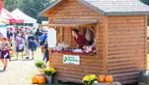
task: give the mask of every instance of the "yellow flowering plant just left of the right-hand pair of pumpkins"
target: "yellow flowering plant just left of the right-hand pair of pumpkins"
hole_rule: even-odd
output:
[[[86,75],[82,79],[82,82],[84,83],[84,85],[98,85],[98,83],[96,83],[97,80],[98,80],[98,77],[95,74],[91,74],[91,75]]]

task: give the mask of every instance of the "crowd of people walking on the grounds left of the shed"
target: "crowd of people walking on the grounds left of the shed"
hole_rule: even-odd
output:
[[[47,33],[37,29],[28,28],[7,28],[7,37],[0,33],[0,60],[6,70],[8,61],[11,61],[10,52],[13,51],[17,57],[34,60],[34,52],[38,47],[44,49],[43,60],[48,61]],[[31,53],[31,56],[30,56]]]

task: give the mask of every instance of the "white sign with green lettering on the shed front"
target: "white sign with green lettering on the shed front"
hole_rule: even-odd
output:
[[[77,55],[64,55],[63,56],[63,63],[64,64],[80,65],[80,56],[77,56]]]

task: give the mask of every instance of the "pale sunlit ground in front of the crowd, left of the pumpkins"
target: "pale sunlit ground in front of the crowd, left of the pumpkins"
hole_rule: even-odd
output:
[[[41,55],[39,52],[36,52],[36,56],[38,55],[38,57],[35,60],[41,59],[39,58],[39,55]],[[0,85],[32,85],[31,77],[38,73],[34,65],[35,60],[9,62],[7,70],[0,72]],[[1,63],[0,67],[2,67]]]

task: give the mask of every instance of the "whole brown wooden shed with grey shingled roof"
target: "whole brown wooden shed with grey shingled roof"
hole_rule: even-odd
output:
[[[96,55],[80,56],[79,65],[63,63],[63,53],[50,54],[57,80],[80,83],[87,74],[110,74],[122,84],[136,82],[147,69],[147,14],[149,7],[137,0],[57,0],[40,15],[49,17],[57,41],[73,47],[72,28],[90,28],[96,38]],[[68,55],[72,55],[69,54]]]

